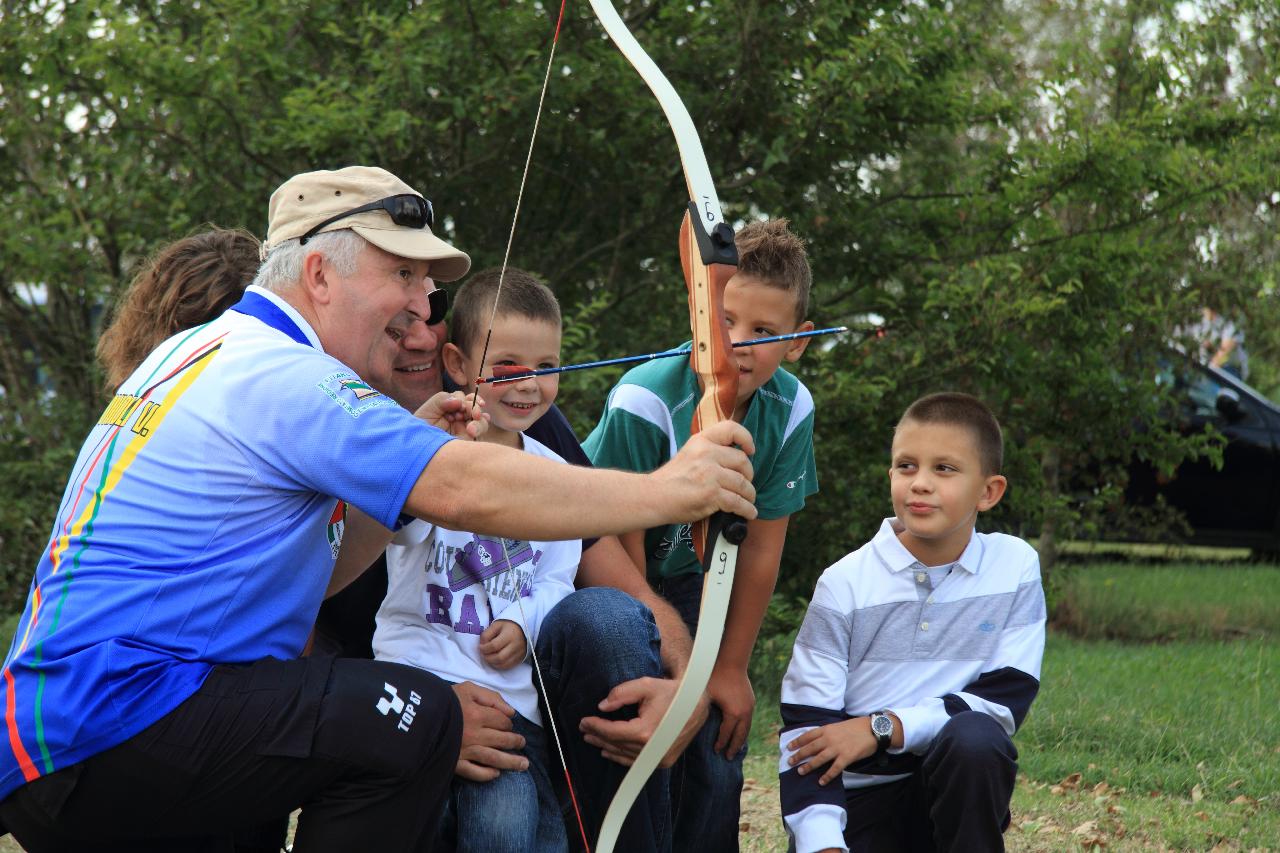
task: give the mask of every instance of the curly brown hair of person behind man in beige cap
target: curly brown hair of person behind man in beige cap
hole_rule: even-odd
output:
[[[106,391],[128,379],[161,341],[209,323],[238,302],[257,273],[257,238],[247,231],[214,227],[152,255],[97,339]]]

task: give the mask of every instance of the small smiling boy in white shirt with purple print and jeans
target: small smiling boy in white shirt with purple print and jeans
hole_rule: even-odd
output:
[[[467,393],[475,391],[481,361],[486,377],[517,365],[559,364],[556,296],[522,270],[508,268],[500,279],[499,288],[498,270],[484,270],[458,291],[444,366]],[[481,441],[563,461],[522,433],[554,402],[558,379],[480,386],[492,419]],[[529,648],[547,613],[573,592],[580,557],[579,539],[526,542],[425,521],[407,525],[387,549],[389,583],[378,611],[375,657],[497,690],[515,708],[515,730],[525,738],[525,771],[493,770],[483,783],[454,777],[442,840],[457,850],[567,848]]]

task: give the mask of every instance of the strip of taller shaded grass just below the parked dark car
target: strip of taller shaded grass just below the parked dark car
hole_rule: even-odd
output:
[[[1053,596],[1053,624],[1084,638],[1280,638],[1280,567],[1064,566]]]

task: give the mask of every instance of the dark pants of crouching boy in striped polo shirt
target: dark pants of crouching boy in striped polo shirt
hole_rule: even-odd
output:
[[[845,792],[845,843],[852,853],[1004,850],[1016,776],[1018,749],[1000,724],[957,713],[911,776]]]

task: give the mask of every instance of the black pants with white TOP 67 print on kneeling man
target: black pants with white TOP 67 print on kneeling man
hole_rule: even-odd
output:
[[[23,785],[31,853],[234,849],[301,807],[296,853],[430,850],[462,738],[448,684],[381,661],[219,666],[137,736]]]

